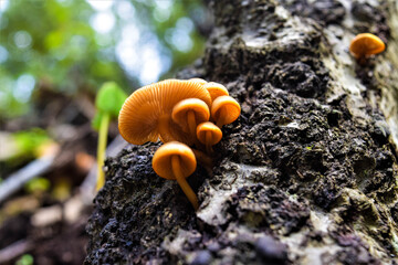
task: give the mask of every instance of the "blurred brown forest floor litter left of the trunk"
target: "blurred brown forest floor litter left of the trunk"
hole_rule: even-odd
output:
[[[0,199],[0,264],[82,264],[96,168],[97,134],[91,127],[95,113],[93,98],[86,95],[71,98],[45,88],[39,94],[32,113],[0,121],[2,136],[41,128],[34,130],[45,131],[57,150],[49,167],[44,166],[28,182],[17,183],[15,192]],[[113,124],[108,140],[116,134]],[[40,157],[32,150],[0,159],[0,190],[4,190],[10,176],[18,176],[15,179],[27,176],[40,163]]]

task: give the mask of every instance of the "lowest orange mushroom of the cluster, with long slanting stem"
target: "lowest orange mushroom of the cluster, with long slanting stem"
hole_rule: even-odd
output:
[[[197,161],[192,150],[178,141],[163,145],[153,158],[155,172],[161,178],[177,180],[195,210],[198,210],[198,198],[186,180],[188,176],[193,173],[196,167]]]

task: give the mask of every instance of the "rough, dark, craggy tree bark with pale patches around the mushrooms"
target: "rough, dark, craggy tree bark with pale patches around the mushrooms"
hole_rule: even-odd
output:
[[[177,182],[159,146],[106,161],[86,264],[396,264],[396,1],[214,0],[203,59],[178,77],[224,84],[242,106],[214,168]],[[349,41],[387,51],[359,66]]]

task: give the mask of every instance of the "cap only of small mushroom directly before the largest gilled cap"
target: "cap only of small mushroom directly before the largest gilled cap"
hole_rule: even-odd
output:
[[[198,98],[184,99],[172,108],[171,118],[185,131],[188,131],[188,112],[193,112],[197,124],[209,120],[210,109],[208,105]]]

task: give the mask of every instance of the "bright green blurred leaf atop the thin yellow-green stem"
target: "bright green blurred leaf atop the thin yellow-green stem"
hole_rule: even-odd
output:
[[[95,98],[95,106],[100,112],[117,117],[126,98],[127,95],[115,82],[107,82],[101,87]]]

